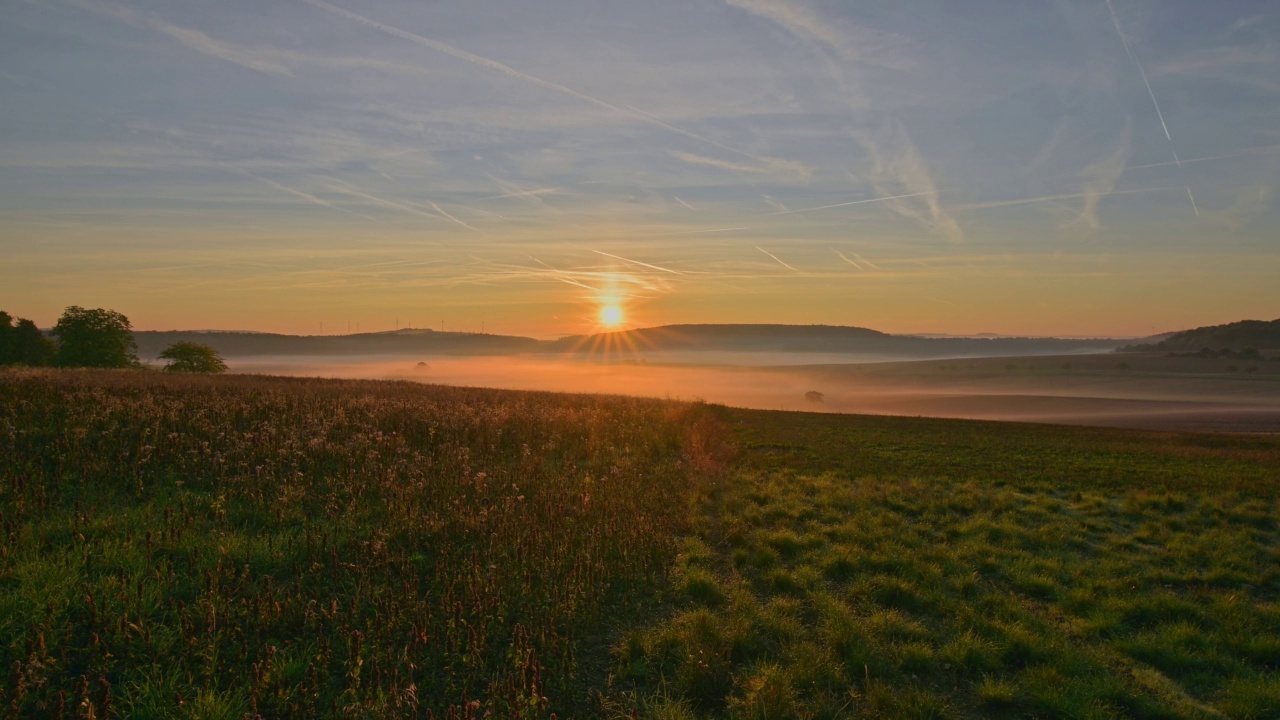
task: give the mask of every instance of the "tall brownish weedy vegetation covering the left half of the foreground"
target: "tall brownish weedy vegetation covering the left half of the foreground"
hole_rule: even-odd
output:
[[[0,374],[0,715],[573,715],[611,619],[689,529],[709,423],[618,397]]]

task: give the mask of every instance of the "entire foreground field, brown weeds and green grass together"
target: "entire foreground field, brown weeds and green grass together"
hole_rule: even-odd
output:
[[[0,374],[0,715],[1272,717],[1280,439]]]

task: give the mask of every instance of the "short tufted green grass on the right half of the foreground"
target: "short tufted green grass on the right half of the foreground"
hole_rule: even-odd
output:
[[[1280,715],[1275,439],[724,416],[740,455],[673,573],[696,592],[616,650],[649,706]]]

